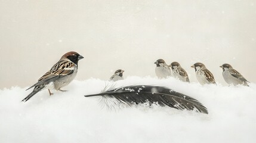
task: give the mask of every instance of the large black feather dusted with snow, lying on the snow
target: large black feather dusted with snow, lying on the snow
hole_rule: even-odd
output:
[[[85,97],[103,96],[115,98],[120,104],[134,105],[149,102],[161,106],[169,106],[178,110],[196,110],[208,114],[208,110],[195,98],[175,92],[163,86],[134,85],[116,89],[109,89],[100,94],[85,95]]]

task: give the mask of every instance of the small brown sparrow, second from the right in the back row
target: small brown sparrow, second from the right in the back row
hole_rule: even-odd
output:
[[[204,64],[195,63],[191,67],[195,68],[196,78],[198,79],[198,82],[201,85],[211,84],[211,83],[216,84],[214,76],[208,69],[206,69]]]

